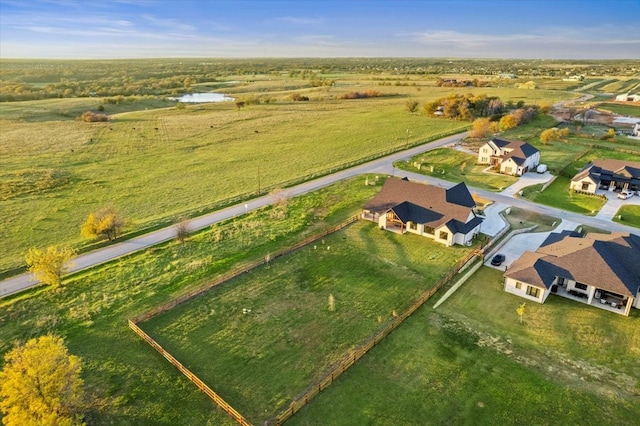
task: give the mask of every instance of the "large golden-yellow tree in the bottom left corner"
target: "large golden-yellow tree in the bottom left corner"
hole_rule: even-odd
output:
[[[6,426],[81,425],[80,358],[60,337],[30,339],[9,351],[0,371],[0,410]]]

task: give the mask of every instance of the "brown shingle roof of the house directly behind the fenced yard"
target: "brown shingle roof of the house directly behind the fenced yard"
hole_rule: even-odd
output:
[[[464,182],[444,189],[434,185],[389,178],[378,195],[365,204],[363,209],[378,214],[393,210],[404,223],[421,223],[432,228],[455,220],[461,225],[451,224],[452,227],[465,229],[464,225],[474,206],[473,197]],[[452,228],[449,229],[454,231]]]

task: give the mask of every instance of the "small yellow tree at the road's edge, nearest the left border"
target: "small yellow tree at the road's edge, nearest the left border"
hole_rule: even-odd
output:
[[[56,288],[62,282],[62,275],[67,272],[67,262],[75,256],[75,250],[49,246],[46,250],[35,247],[27,253],[27,269],[40,282]]]

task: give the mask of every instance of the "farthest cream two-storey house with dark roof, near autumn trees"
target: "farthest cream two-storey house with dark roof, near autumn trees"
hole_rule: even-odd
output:
[[[540,164],[540,151],[526,142],[494,138],[480,147],[478,164],[491,164],[500,173],[522,176]]]

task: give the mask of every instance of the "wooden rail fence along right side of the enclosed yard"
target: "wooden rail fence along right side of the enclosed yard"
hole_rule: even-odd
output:
[[[387,325],[373,336],[370,336],[360,343],[356,349],[347,352],[340,361],[328,369],[325,374],[312,386],[293,400],[287,408],[278,414],[275,419],[269,421],[269,424],[281,425],[302,407],[309,403],[322,390],[327,388],[333,381],[340,377],[349,367],[362,358],[371,348],[380,343],[382,339],[389,335],[393,330],[398,328],[402,322],[420,308],[427,300],[429,300],[442,286],[444,286],[453,276],[455,276],[463,266],[474,257],[479,256],[482,259],[482,251],[476,249],[460,260],[453,269],[451,269],[438,283],[430,290],[424,292],[418,299],[407,308],[404,313],[390,320]]]

